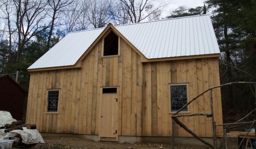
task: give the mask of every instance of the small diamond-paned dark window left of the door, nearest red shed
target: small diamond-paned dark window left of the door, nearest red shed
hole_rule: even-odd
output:
[[[48,91],[47,112],[57,112],[58,111],[58,94],[59,94],[59,91]]]

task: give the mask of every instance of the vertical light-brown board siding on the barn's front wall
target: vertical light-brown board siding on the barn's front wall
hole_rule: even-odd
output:
[[[219,85],[218,58],[141,63],[140,54],[124,40],[119,57],[102,58],[99,41],[81,69],[30,73],[26,123],[39,132],[99,134],[102,86],[119,86],[118,135],[171,136],[170,83],[188,83],[188,100]],[[47,112],[47,91],[59,89],[58,114]],[[222,123],[220,89],[213,89],[216,123]],[[210,113],[209,92],[189,105],[189,112]],[[211,118],[179,117],[201,137],[212,137]],[[217,129],[217,133],[221,128]],[[175,125],[175,136],[191,136]]]

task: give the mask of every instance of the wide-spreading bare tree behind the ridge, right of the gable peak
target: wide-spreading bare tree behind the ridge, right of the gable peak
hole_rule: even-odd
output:
[[[125,23],[124,20],[137,23],[147,18],[148,20],[159,19],[161,11],[168,4],[163,0],[158,1],[158,4],[154,0],[118,0],[116,8],[119,10],[111,11],[111,13],[112,17],[114,17],[113,19],[118,20],[120,23]]]

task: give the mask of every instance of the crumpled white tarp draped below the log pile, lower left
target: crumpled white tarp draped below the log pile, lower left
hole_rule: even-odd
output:
[[[45,143],[37,129],[26,129],[26,127],[22,128],[23,130],[13,130],[9,133],[5,133],[5,129],[0,129],[0,139],[6,140],[9,139],[9,137],[15,137],[15,135],[19,134],[22,138],[22,143]]]

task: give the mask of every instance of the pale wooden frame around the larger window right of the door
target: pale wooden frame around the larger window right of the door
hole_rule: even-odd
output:
[[[172,111],[172,99],[171,99],[171,86],[179,86],[179,85],[186,85],[186,91],[187,91],[187,103],[189,102],[189,83],[169,83],[169,101],[170,101],[170,112],[168,112],[169,114],[173,114],[176,113],[177,111]],[[190,110],[189,110],[189,105],[187,106],[187,111],[180,111],[178,114],[190,114]]]

